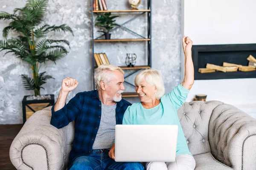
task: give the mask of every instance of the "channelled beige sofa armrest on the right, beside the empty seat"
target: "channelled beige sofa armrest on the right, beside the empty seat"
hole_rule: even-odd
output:
[[[209,122],[212,155],[235,170],[256,167],[256,119],[229,104],[213,109]]]

